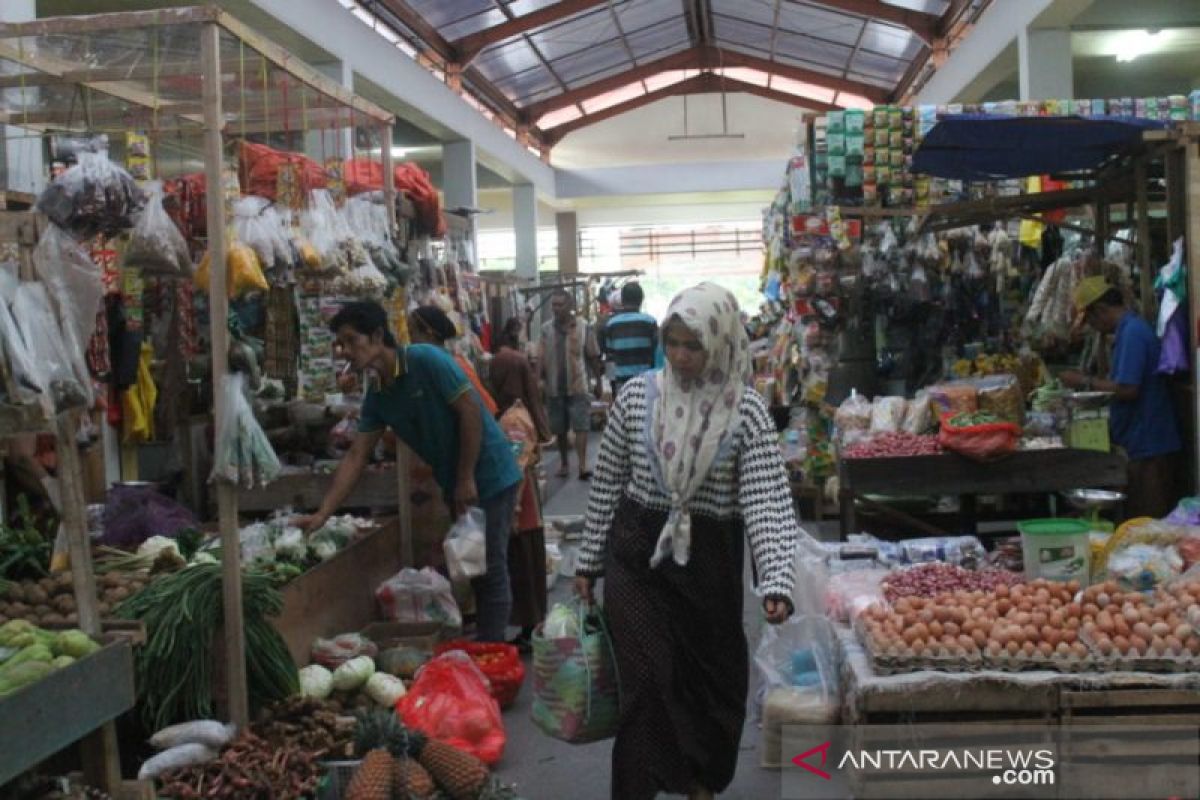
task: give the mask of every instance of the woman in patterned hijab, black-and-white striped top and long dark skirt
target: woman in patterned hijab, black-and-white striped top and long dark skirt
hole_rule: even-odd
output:
[[[630,380],[610,413],[576,569],[588,602],[605,578],[620,800],[703,800],[733,780],[749,685],[743,539],[767,620],[792,613],[799,525],[767,403],[746,386],[733,295],[682,291],[662,344],[666,367]]]

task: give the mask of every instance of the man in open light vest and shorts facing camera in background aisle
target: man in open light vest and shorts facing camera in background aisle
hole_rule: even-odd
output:
[[[558,476],[570,475],[571,443],[575,434],[575,457],[578,459],[580,480],[592,477],[588,470],[588,431],[592,429],[592,396],[588,384],[600,396],[600,348],[595,332],[575,313],[575,297],[558,289],[551,295],[553,319],[541,327],[539,363],[546,390],[550,428],[558,438],[562,464]]]

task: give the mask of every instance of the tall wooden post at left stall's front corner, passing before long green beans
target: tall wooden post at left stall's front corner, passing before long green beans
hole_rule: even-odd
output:
[[[204,77],[204,174],[209,187],[208,228],[209,325],[212,336],[212,410],[216,429],[228,413],[224,380],[229,373],[229,297],[226,269],[224,118],[221,110],[221,28],[206,24],[200,32]],[[226,680],[228,718],[239,728],[250,723],[246,681],[246,633],[241,603],[241,542],[238,537],[238,489],[218,481],[217,524],[221,531],[221,566],[224,606]]]

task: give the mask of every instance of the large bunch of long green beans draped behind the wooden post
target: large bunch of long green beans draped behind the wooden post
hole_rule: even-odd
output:
[[[274,578],[246,571],[242,604],[251,702],[265,704],[298,693],[295,662],[268,620],[283,608]],[[224,615],[221,565],[197,564],[163,576],[122,602],[116,615],[146,626],[146,643],[134,663],[146,727],[158,730],[212,717],[212,639]]]

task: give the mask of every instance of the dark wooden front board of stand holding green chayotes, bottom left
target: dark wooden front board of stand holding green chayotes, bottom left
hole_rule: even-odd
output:
[[[0,699],[0,786],[134,704],[133,649],[107,644]]]

